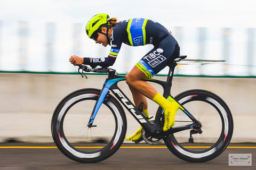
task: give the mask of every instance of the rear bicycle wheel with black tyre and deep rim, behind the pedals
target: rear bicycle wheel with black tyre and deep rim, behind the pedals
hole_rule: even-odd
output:
[[[187,162],[206,162],[219,156],[233,134],[233,118],[225,102],[205,90],[188,90],[176,96],[175,100],[202,123],[203,133],[192,135],[194,143],[188,142],[191,129],[171,134],[164,138],[167,148]],[[187,125],[189,121],[188,116],[179,109],[174,126]]]

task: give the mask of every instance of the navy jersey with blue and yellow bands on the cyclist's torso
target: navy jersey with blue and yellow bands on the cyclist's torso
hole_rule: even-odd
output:
[[[156,46],[170,32],[158,22],[143,18],[135,18],[118,22],[111,35],[109,57],[116,58],[122,43],[130,46],[153,44]]]

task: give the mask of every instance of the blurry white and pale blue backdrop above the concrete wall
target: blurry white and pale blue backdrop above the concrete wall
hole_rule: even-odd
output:
[[[85,25],[94,14],[108,13],[119,21],[152,19],[170,29],[181,55],[197,60],[183,62],[177,74],[255,76],[255,5],[252,0],[3,0],[0,70],[76,72],[68,62],[71,55],[106,57],[110,47],[89,39]],[[113,68],[129,72],[152,47],[123,45]]]

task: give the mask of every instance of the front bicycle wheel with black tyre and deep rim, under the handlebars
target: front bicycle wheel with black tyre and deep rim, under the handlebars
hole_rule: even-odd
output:
[[[62,99],[54,111],[53,140],[64,155],[76,162],[95,163],[107,159],[125,138],[126,116],[111,95],[103,101],[94,126],[87,126],[99,95],[99,89],[77,90]]]

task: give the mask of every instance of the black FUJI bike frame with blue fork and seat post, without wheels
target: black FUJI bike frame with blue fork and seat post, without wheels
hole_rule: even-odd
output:
[[[170,69],[169,69],[169,73],[166,81],[161,81],[156,79],[143,79],[143,80],[160,84],[164,90],[163,96],[170,101],[174,101],[178,103],[178,101],[175,101],[175,99],[171,97],[171,94],[170,94],[174,68],[176,65],[177,63],[175,61],[167,65],[169,66]],[[198,126],[201,126],[201,123],[197,121],[196,118],[193,115],[191,115],[185,107],[183,107],[178,103],[180,105],[180,109],[191,119],[191,121],[193,121],[193,123],[188,125],[173,127],[166,132],[162,131],[161,118],[163,116],[163,109],[160,106],[158,107],[155,115],[154,123],[150,123],[148,121],[148,117],[139,108],[136,108],[132,103],[132,101],[129,98],[127,98],[126,95],[123,93],[123,91],[118,87],[117,83],[124,80],[126,80],[125,76],[117,75],[115,74],[115,71],[109,71],[108,78],[106,79],[102,87],[102,90],[100,92],[100,96],[97,100],[97,103],[93,108],[93,112],[92,112],[90,121],[88,123],[89,127],[93,126],[94,118],[97,115],[101,104],[107,98],[109,91],[113,92],[113,94],[123,104],[123,106],[127,109],[127,111],[129,111],[132,114],[132,116],[135,118],[135,120],[137,120],[141,124],[141,126],[145,129],[145,131],[152,136],[165,137],[175,132],[179,132],[187,129],[194,129]]]

